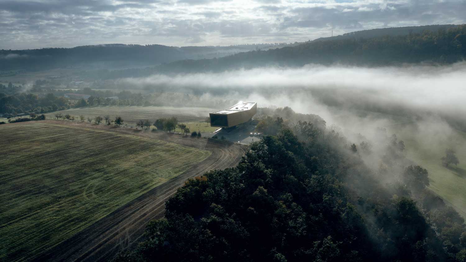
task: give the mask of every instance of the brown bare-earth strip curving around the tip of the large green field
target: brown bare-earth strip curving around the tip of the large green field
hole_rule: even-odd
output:
[[[189,171],[164,184],[151,189],[137,199],[100,219],[70,239],[48,250],[35,261],[107,261],[117,252],[135,247],[144,233],[145,225],[154,218],[164,216],[164,203],[189,178],[203,174],[212,169],[224,169],[235,166],[243,151],[238,145],[203,138],[184,138],[161,132],[134,131],[128,128],[114,128],[94,124],[77,124],[64,121],[44,121],[50,124],[66,124],[111,132],[126,133],[147,138],[154,138],[179,145],[211,151],[212,154],[194,165]]]

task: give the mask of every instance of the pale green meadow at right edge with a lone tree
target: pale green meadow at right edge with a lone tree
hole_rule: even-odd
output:
[[[404,140],[406,157],[429,171],[429,188],[466,218],[466,133],[441,123],[395,125],[388,130]],[[458,166],[442,165],[446,148],[456,151]]]

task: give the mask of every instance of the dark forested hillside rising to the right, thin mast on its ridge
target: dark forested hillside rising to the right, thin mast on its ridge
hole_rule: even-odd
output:
[[[333,38],[267,51],[242,52],[226,57],[182,60],[144,69],[102,72],[102,79],[142,77],[152,74],[221,72],[267,66],[301,67],[305,64],[399,66],[430,62],[451,64],[466,56],[466,25],[405,35]],[[90,73],[90,72],[89,72]]]

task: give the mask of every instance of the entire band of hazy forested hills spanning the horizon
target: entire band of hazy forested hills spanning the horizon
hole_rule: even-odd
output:
[[[458,34],[463,36],[456,38]],[[449,63],[463,57],[465,48],[458,45],[464,46],[464,41],[464,26],[432,25],[356,31],[301,44],[295,43],[284,48],[270,44],[224,47],[107,44],[75,48],[0,50],[0,70],[63,67],[80,67],[84,70],[115,69],[171,63],[161,65],[155,71],[172,72],[205,69],[218,71],[270,64],[301,66],[307,63],[335,62],[359,65],[420,61]],[[261,49],[267,51],[260,51]],[[201,60],[197,61],[199,59]],[[104,79],[115,78],[120,76],[121,72],[104,70],[99,71],[98,75]],[[144,76],[152,72],[153,68],[123,70],[125,76]]]

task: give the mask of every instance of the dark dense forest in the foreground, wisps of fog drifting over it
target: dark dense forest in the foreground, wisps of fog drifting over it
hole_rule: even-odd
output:
[[[464,219],[395,134],[349,141],[290,108],[268,117],[273,134],[189,179],[116,261],[466,261]]]

